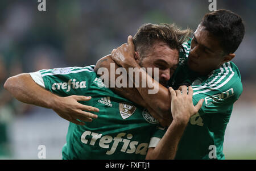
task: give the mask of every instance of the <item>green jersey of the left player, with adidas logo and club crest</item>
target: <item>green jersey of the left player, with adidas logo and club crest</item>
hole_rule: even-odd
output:
[[[93,68],[94,65],[30,73],[35,82],[52,93],[62,97],[91,96],[90,101],[80,103],[100,109],[94,112],[98,118],[85,126],[69,123],[63,159],[145,159],[148,145],[155,143],[151,137],[162,137],[164,131],[156,131],[158,121],[146,109],[106,87]]]

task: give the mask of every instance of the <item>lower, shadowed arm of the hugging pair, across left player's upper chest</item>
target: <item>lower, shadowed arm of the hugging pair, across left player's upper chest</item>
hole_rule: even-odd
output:
[[[114,66],[114,67],[111,67]],[[116,69],[119,66],[112,60],[111,55],[102,57],[100,60],[98,60],[94,70],[95,72],[99,75],[102,76],[104,74],[104,72],[101,72],[102,68],[105,68],[106,70],[108,70],[108,73],[110,74],[111,72],[116,71]],[[101,68],[101,69],[100,69]],[[104,69],[102,69],[104,70]],[[117,78],[121,76],[121,74],[113,74],[113,76],[108,76],[109,80],[108,83],[109,85],[115,85],[115,81],[117,80]],[[137,103],[140,106],[145,107],[146,109],[148,109],[148,111],[150,112],[150,114],[152,116],[154,116],[155,119],[157,119],[160,124],[162,124],[162,126],[168,126],[170,125],[170,115],[159,115],[155,109],[153,109],[153,107],[151,107],[148,103],[146,103],[146,101],[144,101],[144,99],[142,98],[141,94],[139,93],[139,91],[133,86],[133,87],[129,87],[128,82],[129,82],[129,77],[127,77],[127,85],[126,87],[110,87],[110,89],[112,91],[114,91],[115,93],[129,99],[130,101]],[[105,81],[105,80],[104,80]]]

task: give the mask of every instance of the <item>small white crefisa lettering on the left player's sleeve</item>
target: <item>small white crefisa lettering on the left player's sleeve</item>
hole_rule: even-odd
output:
[[[86,81],[76,81],[76,79],[70,79],[68,82],[55,82],[52,84],[52,90],[66,90],[67,92],[72,89],[86,88]]]

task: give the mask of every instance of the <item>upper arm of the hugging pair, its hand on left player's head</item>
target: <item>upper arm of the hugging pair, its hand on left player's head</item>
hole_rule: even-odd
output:
[[[134,59],[134,44],[133,37],[128,37],[128,44],[123,44],[121,47],[112,51],[112,59],[121,65],[126,70],[129,68],[141,69],[141,66]],[[132,79],[133,76],[129,75]],[[150,80],[150,81],[148,81]],[[146,71],[139,72],[139,82],[137,84],[142,85],[142,82],[147,82],[147,87],[137,87],[139,94],[141,94],[143,100],[162,117],[170,119],[170,92],[168,89],[159,82],[155,81]],[[151,88],[150,88],[151,87]],[[148,93],[153,91],[153,93]]]

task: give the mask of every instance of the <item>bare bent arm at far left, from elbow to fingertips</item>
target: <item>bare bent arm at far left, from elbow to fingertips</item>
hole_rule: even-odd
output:
[[[91,97],[79,95],[60,97],[36,84],[29,73],[18,74],[17,76],[8,78],[4,87],[20,102],[52,109],[61,118],[69,122],[84,124],[76,119],[91,122],[92,118],[97,118],[97,115],[88,112],[97,112],[97,108],[77,102],[89,101]]]

